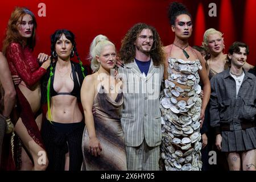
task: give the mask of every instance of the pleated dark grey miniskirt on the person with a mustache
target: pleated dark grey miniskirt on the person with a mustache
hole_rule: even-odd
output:
[[[256,127],[245,130],[222,131],[222,152],[240,152],[256,148]]]

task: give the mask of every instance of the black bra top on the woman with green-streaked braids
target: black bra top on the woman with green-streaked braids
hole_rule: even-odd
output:
[[[79,81],[77,79],[77,75],[76,75],[76,72],[75,72],[74,65],[71,63],[71,70],[72,70],[71,72],[72,72],[73,81],[74,81],[74,87],[73,87],[73,90],[72,90],[71,93],[69,93],[69,92],[59,92],[59,93],[57,93],[54,90],[53,81],[54,81],[54,76],[55,76],[55,68],[53,68],[53,70],[52,70],[53,76],[51,77],[51,87],[50,87],[51,97],[59,96],[59,95],[69,95],[69,96],[79,97],[79,95],[80,95],[80,85],[79,85]]]

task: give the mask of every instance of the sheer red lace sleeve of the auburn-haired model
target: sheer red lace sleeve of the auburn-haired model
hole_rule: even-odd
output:
[[[12,75],[18,74],[28,87],[33,86],[46,73],[46,69],[39,67],[32,51],[22,48],[19,43],[11,43],[6,56]]]

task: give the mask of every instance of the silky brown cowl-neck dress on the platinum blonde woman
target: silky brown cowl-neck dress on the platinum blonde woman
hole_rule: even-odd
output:
[[[82,138],[82,153],[84,162],[82,170],[87,171],[125,171],[127,170],[125,142],[119,110],[123,104],[123,94],[118,93],[112,100],[101,86],[100,92],[94,98],[93,119],[96,136],[100,141],[102,151],[100,156],[93,156],[89,152],[89,135],[84,129]]]

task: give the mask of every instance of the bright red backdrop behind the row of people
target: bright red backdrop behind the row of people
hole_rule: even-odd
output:
[[[35,54],[49,53],[49,36],[59,28],[67,28],[76,35],[77,49],[81,59],[86,63],[89,45],[94,36],[104,34],[119,49],[121,39],[127,30],[138,22],[151,24],[158,30],[164,45],[173,42],[174,34],[167,19],[167,8],[170,0],[33,0],[1,2],[0,41],[11,11],[15,6],[28,7],[36,15],[38,22],[37,44]],[[234,41],[243,41],[250,46],[248,62],[256,63],[255,15],[253,7],[256,1],[231,0],[183,0],[193,17],[193,34],[190,45],[199,44],[203,40],[204,30],[216,28],[224,33],[225,47],[228,49]],[[209,3],[216,3],[217,16],[208,15]],[[39,17],[39,3],[46,4],[46,17]],[[2,48],[2,44],[0,44]]]

